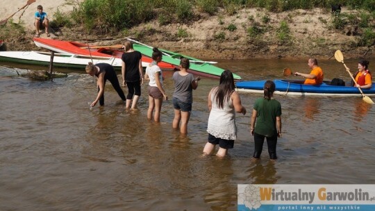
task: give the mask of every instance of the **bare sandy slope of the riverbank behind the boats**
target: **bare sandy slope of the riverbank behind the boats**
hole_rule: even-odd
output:
[[[5,19],[13,12],[26,4],[26,0],[13,2],[3,0],[0,8],[0,19]],[[44,7],[44,11],[53,21],[53,14],[57,10],[67,12],[72,10],[72,1],[67,0],[37,0],[25,10],[17,12],[14,16],[15,23],[22,23],[27,29],[26,42],[5,39],[11,43],[7,50],[33,50],[37,49],[32,42],[33,15],[38,5]],[[360,16],[356,10],[342,8],[342,13]],[[294,10],[288,12],[272,13],[259,8],[246,8],[238,10],[237,14],[228,16],[224,12],[218,15],[208,16],[199,14],[199,20],[190,24],[167,24],[160,26],[157,19],[140,24],[129,29],[128,35],[138,35],[138,40],[155,47],[169,49],[185,53],[198,58],[217,59],[247,59],[247,58],[330,58],[335,50],[341,49],[348,58],[365,56],[374,58],[374,46],[358,47],[356,40],[359,35],[346,35],[344,30],[333,30],[330,23],[333,19],[327,9],[315,8],[313,10]],[[269,22],[264,23],[267,17]],[[288,40],[281,42],[277,37],[277,30],[281,21],[286,21],[290,32]],[[374,24],[374,19],[371,20]],[[235,30],[228,30],[233,24]],[[249,28],[254,24],[260,24],[267,28],[261,37],[249,36]],[[185,37],[178,35],[178,31],[184,31]],[[360,33],[360,29],[358,33]],[[42,33],[41,37],[47,37]],[[82,30],[60,28],[51,33],[51,38],[60,40],[82,40],[85,37]],[[219,37],[219,38],[218,38]],[[29,42],[27,42],[27,40]],[[93,44],[119,44],[123,42],[124,35],[90,35]]]

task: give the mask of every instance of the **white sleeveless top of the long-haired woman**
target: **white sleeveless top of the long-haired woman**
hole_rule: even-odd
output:
[[[212,108],[208,117],[207,132],[224,140],[236,140],[237,127],[233,102],[229,97],[228,101],[224,102],[224,108],[219,108],[215,99],[216,90],[217,88],[211,93]]]

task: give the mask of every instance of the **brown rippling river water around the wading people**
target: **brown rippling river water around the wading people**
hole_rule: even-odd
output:
[[[327,79],[349,80],[334,58],[319,65]],[[310,71],[307,59],[218,66],[244,80],[285,78],[284,67]],[[172,101],[163,103],[160,124],[147,121],[146,85],[138,112],[124,110],[110,83],[106,105],[90,110],[96,83],[83,70],[56,69],[68,77],[51,82],[17,76],[25,69],[47,67],[0,63],[0,210],[236,210],[238,184],[375,183],[375,107],[360,95],[276,96],[283,109],[278,160],[269,161],[265,144],[253,162],[249,122],[260,94],[240,94],[248,113],[237,115],[238,140],[221,160],[201,156],[215,79],[203,78],[194,91],[183,137],[172,130]],[[171,76],[165,71],[169,97]]]

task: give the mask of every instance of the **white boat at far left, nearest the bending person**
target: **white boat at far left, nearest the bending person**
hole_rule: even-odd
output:
[[[51,52],[38,52],[38,51],[0,51],[0,61],[17,62],[28,65],[43,65],[49,66],[51,60]],[[85,69],[88,62],[93,64],[108,63],[113,65],[115,69],[121,69],[122,60],[120,58],[108,58],[100,56],[79,56],[71,53],[54,53],[53,66],[67,67],[67,68],[80,68]],[[148,63],[143,63],[146,66]]]

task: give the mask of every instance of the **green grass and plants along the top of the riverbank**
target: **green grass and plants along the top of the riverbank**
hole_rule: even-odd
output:
[[[260,7],[272,12],[294,9],[326,8],[330,10],[332,0],[83,0],[72,1],[74,10],[63,13],[57,10],[51,26],[83,26],[87,33],[120,32],[140,23],[156,19],[160,25],[171,23],[188,24],[199,17],[200,13],[217,15],[219,9],[226,15],[236,15],[242,8]],[[342,6],[369,10],[370,15],[361,15],[360,26],[367,27],[367,20],[375,17],[375,0],[341,0]],[[261,22],[267,24],[267,15]],[[343,17],[333,20],[333,28],[342,28],[346,23]],[[253,22],[253,15],[249,16]],[[350,17],[348,17],[350,19]],[[224,23],[222,23],[224,24]],[[369,26],[370,27],[370,26]],[[229,29],[228,29],[229,30]],[[254,29],[256,31],[256,29]]]

